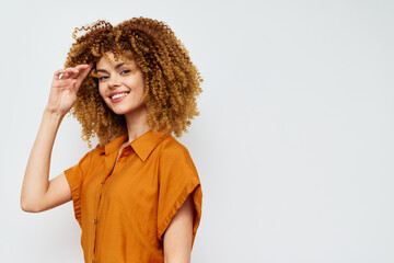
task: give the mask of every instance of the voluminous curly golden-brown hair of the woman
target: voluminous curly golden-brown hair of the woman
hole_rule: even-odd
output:
[[[86,31],[77,37],[79,31]],[[190,119],[197,116],[196,98],[201,92],[202,78],[193,65],[188,52],[163,22],[135,18],[112,26],[97,21],[76,28],[65,64],[66,68],[97,62],[111,52],[115,58],[132,58],[144,77],[143,102],[147,123],[153,130],[182,136]],[[82,125],[81,138],[91,147],[91,137],[104,146],[127,130],[124,115],[116,115],[99,93],[95,69],[88,75],[77,94],[70,114]]]

